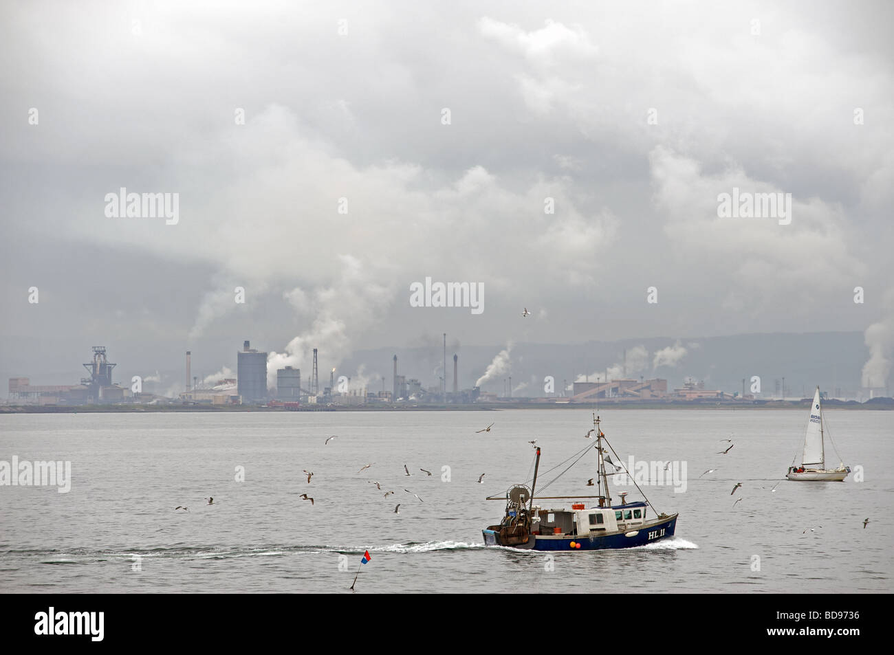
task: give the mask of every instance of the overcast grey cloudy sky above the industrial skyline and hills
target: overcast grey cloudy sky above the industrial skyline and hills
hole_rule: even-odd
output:
[[[309,365],[442,332],[825,331],[865,331],[889,375],[892,24],[887,2],[4,3],[0,375],[76,382],[97,344],[210,373],[245,339]],[[122,187],[179,194],[178,222],[107,216]],[[791,194],[790,223],[719,216],[734,188]],[[426,276],[483,284],[484,312],[410,307]]]

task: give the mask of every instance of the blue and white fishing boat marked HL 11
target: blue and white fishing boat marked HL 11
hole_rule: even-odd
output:
[[[645,499],[645,493],[639,489],[639,485],[637,489],[643,493],[645,501],[627,502],[628,494],[625,492],[620,494],[620,504],[612,504],[605,463],[608,461],[611,466],[620,469],[623,469],[623,465],[619,466],[611,460],[610,451],[619,462],[621,461],[599,429],[599,423],[599,416],[594,416],[595,429],[591,432],[596,437],[595,451],[599,479],[597,495],[535,496],[537,471],[540,467],[540,448],[537,447],[531,486],[515,484],[506,491],[505,496],[487,497],[486,500],[506,500],[506,511],[498,525],[490,525],[482,531],[485,545],[532,550],[603,550],[644,546],[673,536],[679,515],[662,513],[647,516],[651,503]],[[571,466],[593,448],[591,444],[587,444],[586,449],[578,453],[579,457]],[[570,466],[565,468],[544,485],[544,489],[569,468]],[[535,505],[535,500],[572,500],[572,502],[570,509],[547,508]],[[589,507],[585,500],[591,501]]]

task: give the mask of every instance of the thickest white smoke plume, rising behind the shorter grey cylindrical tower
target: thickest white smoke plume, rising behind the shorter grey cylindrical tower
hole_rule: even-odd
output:
[[[267,386],[274,387],[276,371],[285,366],[306,368],[313,357],[313,349],[336,366],[350,355],[352,342],[371,325],[380,320],[392,303],[392,290],[379,284],[380,279],[368,265],[350,255],[339,256],[341,275],[332,286],[310,293],[296,289],[283,294],[300,315],[314,319],[300,332],[283,352],[267,355]],[[353,380],[351,381],[353,385]]]

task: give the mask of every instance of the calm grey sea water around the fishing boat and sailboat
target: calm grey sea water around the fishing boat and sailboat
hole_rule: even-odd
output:
[[[863,482],[770,491],[800,453],[803,411],[603,411],[625,462],[686,463],[686,491],[644,487],[679,512],[677,536],[558,553],[552,570],[544,553],[484,547],[503,510],[485,496],[527,478],[527,441],[542,472],[586,446],[589,410],[0,416],[0,460],[72,463],[68,493],[0,487],[0,591],[348,592],[368,550],[357,592],[891,592],[894,412],[825,415]],[[594,463],[549,494],[592,493]]]

